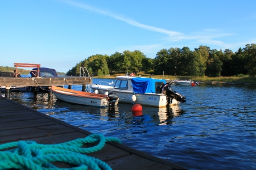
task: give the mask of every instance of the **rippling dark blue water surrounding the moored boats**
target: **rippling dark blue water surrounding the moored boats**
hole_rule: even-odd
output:
[[[92,133],[117,137],[127,146],[188,169],[256,169],[255,86],[172,88],[187,102],[167,108],[143,106],[141,116],[132,114],[132,103],[97,108],[29,92],[11,93],[11,100]]]

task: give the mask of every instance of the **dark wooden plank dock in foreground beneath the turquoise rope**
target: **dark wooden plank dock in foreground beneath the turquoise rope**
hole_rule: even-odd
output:
[[[0,144],[14,141],[56,144],[85,138],[90,134],[0,96]],[[102,150],[86,155],[104,161],[112,169],[185,169],[116,142],[108,142]],[[60,168],[70,166],[65,163],[55,165]]]

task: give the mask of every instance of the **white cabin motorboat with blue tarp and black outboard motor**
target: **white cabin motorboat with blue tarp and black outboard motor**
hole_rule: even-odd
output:
[[[92,84],[96,94],[108,95],[114,92],[119,102],[166,107],[185,102],[185,96],[172,90],[164,79],[143,78],[138,76],[117,76],[114,86]]]

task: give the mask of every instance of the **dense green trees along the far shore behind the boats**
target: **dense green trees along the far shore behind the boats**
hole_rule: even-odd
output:
[[[109,75],[120,72],[153,71],[155,75],[234,76],[256,75],[256,44],[247,44],[237,52],[199,46],[193,51],[183,48],[161,49],[155,58],[147,58],[141,51],[125,50],[111,56],[96,54],[76,63],[67,75],[80,75],[86,67],[90,75]]]

